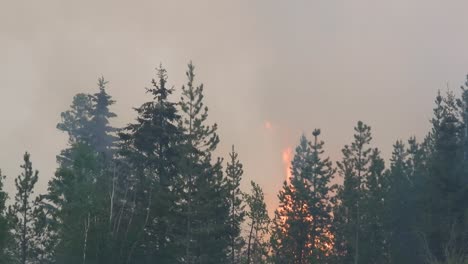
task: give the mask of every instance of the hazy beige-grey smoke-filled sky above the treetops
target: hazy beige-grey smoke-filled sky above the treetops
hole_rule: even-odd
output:
[[[149,99],[159,63],[179,88],[193,60],[219,124],[218,154],[235,144],[244,186],[257,181],[274,205],[282,152],[301,133],[321,128],[334,161],[358,120],[386,158],[395,140],[426,133],[436,91],[458,92],[468,73],[467,10],[440,0],[0,0],[7,190],[28,150],[45,191],[66,143],[59,114],[74,94],[95,92],[101,74],[122,126]]]

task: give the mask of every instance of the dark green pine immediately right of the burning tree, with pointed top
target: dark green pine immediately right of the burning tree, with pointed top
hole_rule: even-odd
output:
[[[335,207],[335,255],[340,263],[385,263],[385,166],[369,145],[371,128],[359,121],[338,172],[344,178]]]

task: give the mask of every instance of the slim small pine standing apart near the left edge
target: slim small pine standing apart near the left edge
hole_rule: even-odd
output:
[[[26,264],[34,259],[31,251],[33,245],[32,225],[34,223],[33,212],[35,203],[33,200],[34,186],[38,180],[39,172],[33,171],[29,153],[25,153],[23,172],[15,179],[15,201],[9,207],[9,214],[13,220],[13,237],[15,244],[15,256],[17,263]]]

